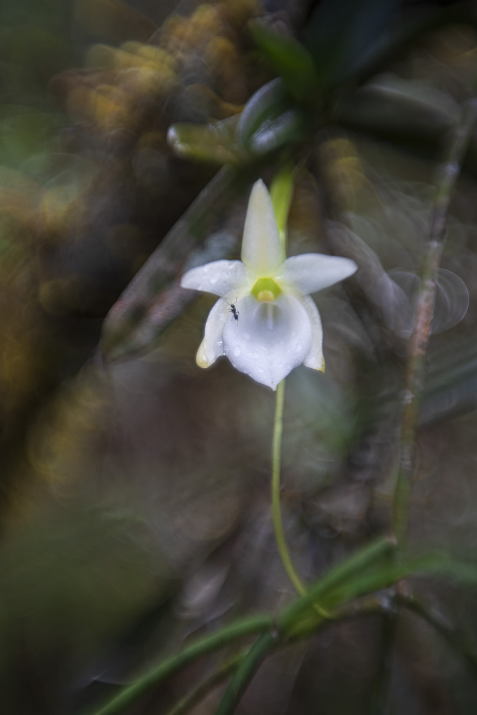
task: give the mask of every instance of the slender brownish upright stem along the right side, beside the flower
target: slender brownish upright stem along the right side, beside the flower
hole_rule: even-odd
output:
[[[471,100],[463,107],[461,125],[451,142],[448,160],[441,167],[441,175],[433,203],[433,217],[428,250],[423,260],[421,290],[415,310],[413,335],[405,374],[403,415],[401,420],[401,454],[398,481],[394,494],[393,529],[400,546],[405,551],[408,534],[409,501],[415,473],[416,437],[419,403],[423,391],[426,350],[433,318],[436,296],[436,270],[441,261],[446,236],[446,218],[449,204],[466,154],[468,140],[476,122],[477,102]]]

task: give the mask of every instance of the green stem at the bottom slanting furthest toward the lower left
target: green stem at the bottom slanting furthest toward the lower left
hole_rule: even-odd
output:
[[[118,715],[154,686],[176,674],[197,658],[216,651],[228,643],[236,641],[237,638],[250,636],[252,633],[260,633],[260,631],[269,630],[273,626],[274,621],[271,616],[244,618],[242,621],[232,623],[231,626],[225,626],[220,631],[201,638],[200,641],[196,641],[180,653],[163,661],[157,668],[149,671],[132,685],[122,689],[109,703],[94,711],[94,715]]]

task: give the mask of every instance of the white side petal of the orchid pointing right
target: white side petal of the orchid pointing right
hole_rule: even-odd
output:
[[[287,258],[276,278],[302,295],[309,295],[348,278],[357,268],[349,258],[303,253]]]

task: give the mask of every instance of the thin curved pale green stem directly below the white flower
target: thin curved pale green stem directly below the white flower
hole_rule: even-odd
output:
[[[275,420],[273,423],[273,440],[272,440],[272,516],[273,529],[275,531],[275,540],[277,541],[278,553],[282,559],[282,564],[287,572],[288,578],[295,586],[300,596],[306,593],[305,586],[297,575],[295,568],[290,558],[287,542],[285,541],[285,532],[283,531],[282,523],[282,508],[280,505],[280,463],[282,452],[282,433],[283,433],[283,403],[285,399],[285,380],[277,386],[277,399],[275,402]]]

